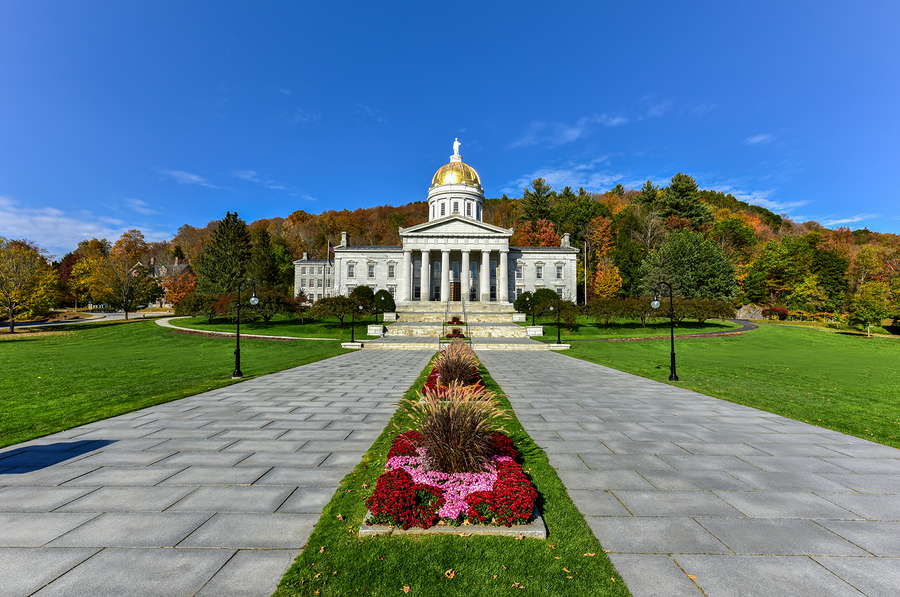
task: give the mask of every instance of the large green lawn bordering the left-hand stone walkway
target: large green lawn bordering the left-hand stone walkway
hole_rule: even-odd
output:
[[[231,384],[234,348],[149,320],[2,334],[0,446]],[[344,352],[338,342],[242,339],[241,370],[255,377]]]

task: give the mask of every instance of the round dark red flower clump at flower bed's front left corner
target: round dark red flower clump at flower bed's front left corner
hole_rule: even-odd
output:
[[[437,487],[414,483],[409,473],[396,469],[378,477],[375,492],[366,500],[366,506],[372,513],[373,523],[427,529],[437,522],[443,502]]]

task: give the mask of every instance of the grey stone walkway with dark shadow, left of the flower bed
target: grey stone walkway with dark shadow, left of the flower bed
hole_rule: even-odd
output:
[[[432,354],[345,354],[0,450],[0,595],[270,595]]]

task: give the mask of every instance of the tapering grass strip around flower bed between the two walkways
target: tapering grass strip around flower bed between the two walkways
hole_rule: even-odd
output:
[[[407,398],[415,397],[430,369],[429,365],[422,371]],[[483,367],[481,373],[488,390],[502,392]],[[502,394],[500,401],[512,413]],[[365,500],[384,472],[390,442],[399,431],[410,429],[408,411],[400,406],[325,506],[275,596],[629,595],[544,451],[514,415],[505,428],[540,494],[538,507],[547,524],[547,539],[456,534],[360,539]],[[459,532],[470,529],[462,526]]]

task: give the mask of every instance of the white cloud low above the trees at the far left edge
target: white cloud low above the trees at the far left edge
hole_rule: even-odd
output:
[[[139,228],[148,241],[172,238],[171,232],[155,230],[143,223],[98,216],[88,211],[72,213],[52,207],[26,207],[19,201],[0,196],[0,236],[34,241],[57,258],[75,250],[82,240],[106,238],[115,242],[131,228]]]

